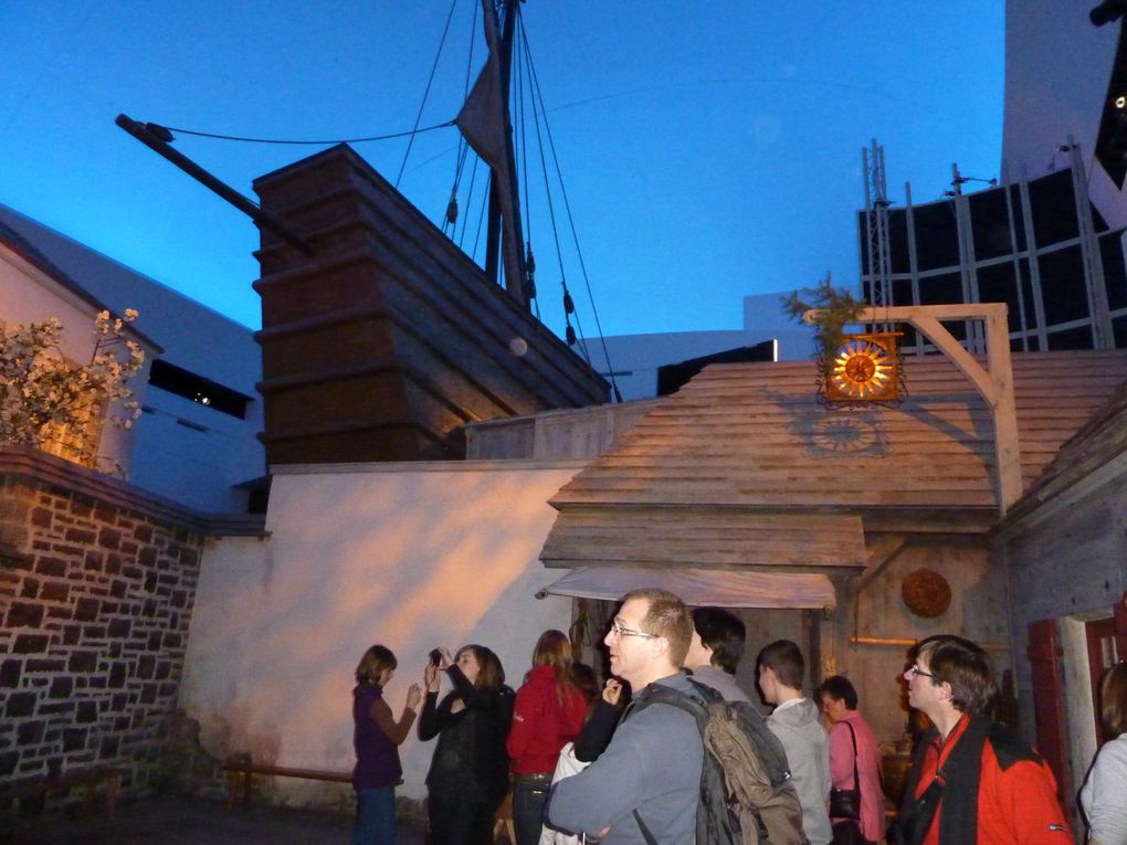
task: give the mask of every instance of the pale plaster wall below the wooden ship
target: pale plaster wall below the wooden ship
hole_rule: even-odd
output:
[[[533,596],[560,575],[538,560],[545,502],[580,466],[274,468],[270,539],[222,540],[203,561],[181,706],[208,751],[352,768],[353,671],[375,642],[399,658],[397,713],[438,644],[488,646],[518,686],[540,632],[570,623],[569,599]],[[399,794],[425,795],[433,749],[412,731]],[[294,803],[318,789],[277,786]]]

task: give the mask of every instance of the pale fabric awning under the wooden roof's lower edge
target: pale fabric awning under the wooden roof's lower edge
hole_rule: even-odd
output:
[[[580,567],[536,593],[618,601],[632,589],[659,587],[694,607],[835,607],[834,586],[824,575],[686,567]]]

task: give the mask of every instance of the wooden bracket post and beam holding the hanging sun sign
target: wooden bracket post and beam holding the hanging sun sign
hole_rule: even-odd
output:
[[[814,322],[819,311],[802,319]],[[1013,398],[1010,364],[1008,309],[1002,302],[949,305],[890,305],[869,308],[858,314],[860,323],[906,322],[926,336],[970,380],[986,401],[994,424],[994,460],[997,465],[999,509],[1021,498],[1021,447],[1018,442],[1018,411]],[[983,320],[986,324],[986,367],[970,355],[940,320]]]

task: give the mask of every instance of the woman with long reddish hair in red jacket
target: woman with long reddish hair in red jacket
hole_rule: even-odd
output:
[[[587,699],[571,679],[571,643],[562,631],[544,631],[532,669],[516,692],[506,748],[513,760],[513,827],[516,845],[536,845],[560,748],[579,733]]]

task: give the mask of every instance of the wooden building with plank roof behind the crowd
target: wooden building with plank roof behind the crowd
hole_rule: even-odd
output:
[[[1023,662],[1005,570],[992,559],[1002,509],[991,409],[946,358],[907,358],[905,373],[899,407],[834,411],[817,401],[810,362],[716,365],[624,434],[591,410],[550,425],[506,420],[472,427],[470,454],[499,456],[495,425],[514,457],[589,456],[567,452],[593,438],[567,432],[565,419],[598,427],[604,443],[616,437],[551,499],[559,515],[543,563],[596,575],[641,568],[674,589],[686,570],[769,579],[771,599],[739,611],[748,648],[737,678],[754,688],[758,648],[795,639],[810,683],[848,674],[878,737],[894,741],[908,727],[898,679],[919,639],[982,642],[1011,708],[1012,669]],[[1012,375],[1029,489],[1127,379],[1127,352],[1015,354]],[[796,590],[788,605],[798,576],[824,579],[832,599],[815,607]],[[585,613],[598,615],[589,603]],[[597,631],[594,620],[592,641]],[[1017,692],[1031,724],[1030,691]]]

